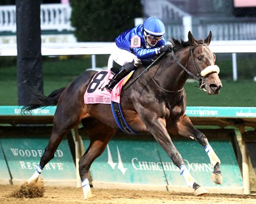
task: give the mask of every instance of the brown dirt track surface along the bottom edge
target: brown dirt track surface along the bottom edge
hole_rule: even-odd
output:
[[[204,197],[195,197],[188,193],[153,192],[139,190],[105,190],[92,189],[93,197],[84,200],[81,188],[45,187],[43,198],[13,198],[9,194],[19,189],[19,185],[0,185],[0,203],[51,203],[51,204],[158,204],[158,203],[256,203],[255,196],[238,196],[232,194],[209,194]]]

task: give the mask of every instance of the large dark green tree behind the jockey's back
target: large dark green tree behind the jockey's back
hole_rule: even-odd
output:
[[[139,0],[70,0],[70,3],[77,41],[113,42],[119,34],[134,27],[134,18],[142,17]]]

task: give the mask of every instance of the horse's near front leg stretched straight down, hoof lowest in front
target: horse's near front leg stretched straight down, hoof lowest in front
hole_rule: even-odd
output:
[[[170,135],[168,134],[166,129],[166,120],[163,118],[148,119],[148,117],[144,117],[143,121],[147,130],[153,135],[168,156],[170,156],[172,162],[174,162],[174,164],[180,169],[180,175],[183,175],[188,186],[195,190],[195,196],[203,196],[204,194],[207,194],[207,190],[201,188],[201,186],[196,183],[196,180],[191,176],[188,169],[185,167],[183,158],[181,157],[179,151],[177,151]]]

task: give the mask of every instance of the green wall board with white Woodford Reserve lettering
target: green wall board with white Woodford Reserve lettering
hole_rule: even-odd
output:
[[[49,131],[24,130],[1,134],[2,151],[10,169],[12,181],[27,181],[38,167],[44,148],[49,141]],[[51,129],[51,128],[49,128]],[[2,161],[2,160],[1,160]],[[2,162],[1,162],[2,163]],[[42,177],[46,182],[72,182],[76,185],[76,168],[67,140],[63,140],[55,152],[55,158],[44,167]],[[71,184],[72,185],[72,184]]]

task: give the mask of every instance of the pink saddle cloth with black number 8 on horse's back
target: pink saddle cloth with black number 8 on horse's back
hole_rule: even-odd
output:
[[[120,95],[123,86],[123,82],[126,81],[127,77],[123,78],[118,84],[113,88],[112,92],[106,90],[105,86],[112,79],[113,74],[110,70],[99,71],[93,76],[92,81],[89,83],[87,90],[84,95],[85,104],[110,104],[111,101],[120,103]]]

